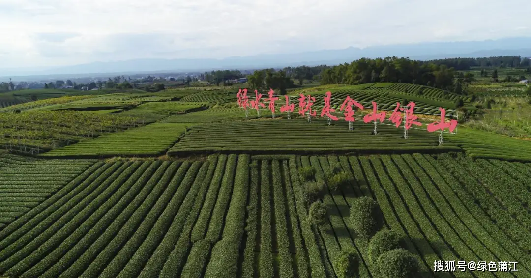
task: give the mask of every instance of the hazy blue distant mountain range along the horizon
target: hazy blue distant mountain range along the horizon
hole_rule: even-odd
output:
[[[417,60],[432,60],[454,57],[490,57],[520,55],[531,57],[530,38],[506,38],[485,41],[423,42],[419,44],[348,47],[289,54],[260,54],[223,59],[132,59],[118,62],[94,62],[82,65],[55,68],[0,68],[0,76],[44,76],[96,73],[156,73],[156,72],[203,72],[212,69],[278,68],[300,65],[337,65],[366,57],[409,57]],[[3,79],[3,78],[0,78]],[[17,78],[17,79],[20,79]]]

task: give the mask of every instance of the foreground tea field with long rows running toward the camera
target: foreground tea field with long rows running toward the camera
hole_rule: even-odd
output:
[[[4,163],[16,164],[10,158]],[[521,213],[527,197],[511,198],[528,189],[502,189],[529,183],[531,167],[519,162],[447,154],[222,154],[205,161],[83,163],[78,178],[0,230],[0,273],[333,277],[331,262],[354,248],[360,277],[371,277],[367,242],[348,225],[349,207],[369,196],[378,201],[385,227],[404,236],[423,277],[450,277],[432,265],[456,258],[518,262],[518,272],[458,271],[456,277],[531,275],[531,222]],[[326,188],[329,218],[316,227],[307,221],[298,170],[313,166],[319,181],[331,163],[340,163],[349,182],[337,192]],[[54,165],[56,172],[70,167]],[[506,210],[497,199],[511,206]]]

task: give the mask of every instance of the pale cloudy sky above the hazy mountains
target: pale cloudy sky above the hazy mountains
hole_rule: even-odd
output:
[[[531,36],[529,7],[528,0],[0,0],[0,68]]]

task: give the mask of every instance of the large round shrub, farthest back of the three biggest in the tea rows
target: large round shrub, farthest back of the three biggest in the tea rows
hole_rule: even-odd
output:
[[[350,207],[350,225],[359,236],[370,238],[383,226],[383,214],[370,197],[359,197]]]

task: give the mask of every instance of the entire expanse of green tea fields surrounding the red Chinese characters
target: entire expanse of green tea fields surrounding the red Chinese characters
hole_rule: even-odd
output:
[[[309,122],[298,101],[288,118],[284,96],[246,116],[233,89],[8,102],[0,277],[531,277],[528,138],[474,128],[488,108],[427,86],[288,95],[328,91],[459,124],[404,138],[387,119]]]

